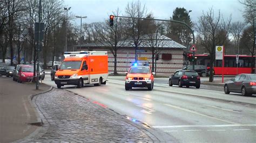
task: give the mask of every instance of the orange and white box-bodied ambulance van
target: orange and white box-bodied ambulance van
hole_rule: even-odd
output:
[[[108,76],[106,51],[64,52],[65,59],[55,74],[58,88],[64,85],[106,84]]]

